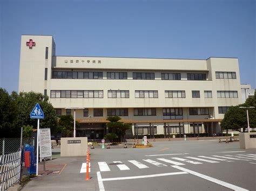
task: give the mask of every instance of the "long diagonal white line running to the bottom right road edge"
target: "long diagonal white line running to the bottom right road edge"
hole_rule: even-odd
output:
[[[200,173],[191,171],[191,170],[189,170],[189,169],[186,169],[186,168],[183,168],[183,167],[180,167],[180,166],[172,166],[172,167],[173,167],[173,168],[180,169],[180,171],[193,174],[193,175],[198,176],[198,177],[200,177],[200,178],[202,178],[202,179],[205,179],[205,180],[208,180],[208,181],[217,183],[218,185],[224,186],[224,187],[229,188],[229,189],[232,189],[232,190],[239,190],[239,191],[246,191],[246,190],[247,190],[247,189],[244,189],[244,188],[241,188],[241,187],[232,185],[231,183],[227,183],[227,182],[224,182],[224,181],[221,181],[221,180],[218,180],[218,179],[214,179],[214,178],[212,178],[212,177],[210,177],[210,176],[206,176],[206,175],[204,175],[204,174],[200,174]]]

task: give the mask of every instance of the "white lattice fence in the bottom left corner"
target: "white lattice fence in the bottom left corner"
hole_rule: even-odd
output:
[[[0,155],[0,190],[7,190],[21,179],[22,151]]]

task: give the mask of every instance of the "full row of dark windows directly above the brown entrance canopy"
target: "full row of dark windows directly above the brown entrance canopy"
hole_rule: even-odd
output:
[[[225,114],[228,107],[219,107],[219,114]],[[209,115],[209,108],[189,108],[190,115]],[[83,116],[89,116],[89,109],[83,110]],[[56,115],[62,115],[62,109],[56,109]],[[71,115],[71,109],[66,109],[66,115]],[[156,116],[156,108],[134,108],[134,116]],[[103,116],[103,108],[93,109],[93,116]],[[128,108],[109,108],[107,116],[129,116]],[[163,108],[164,119],[183,119],[183,108]]]

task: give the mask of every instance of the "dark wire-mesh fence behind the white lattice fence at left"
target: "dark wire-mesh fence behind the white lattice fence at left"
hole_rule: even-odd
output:
[[[34,138],[23,138],[21,145],[21,138],[0,138],[0,155],[14,153],[19,151],[21,146],[35,146]]]

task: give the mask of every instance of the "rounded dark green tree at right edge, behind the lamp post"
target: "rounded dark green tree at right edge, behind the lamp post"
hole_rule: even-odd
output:
[[[256,94],[256,92],[255,92]],[[226,112],[224,119],[220,122],[222,129],[233,129],[236,131],[240,131],[240,128],[247,128],[247,114],[245,108],[239,107],[255,107],[248,109],[249,112],[249,121],[250,128],[256,128],[256,99],[254,96],[250,96],[247,98],[244,104],[240,104],[234,107],[230,107]]]

